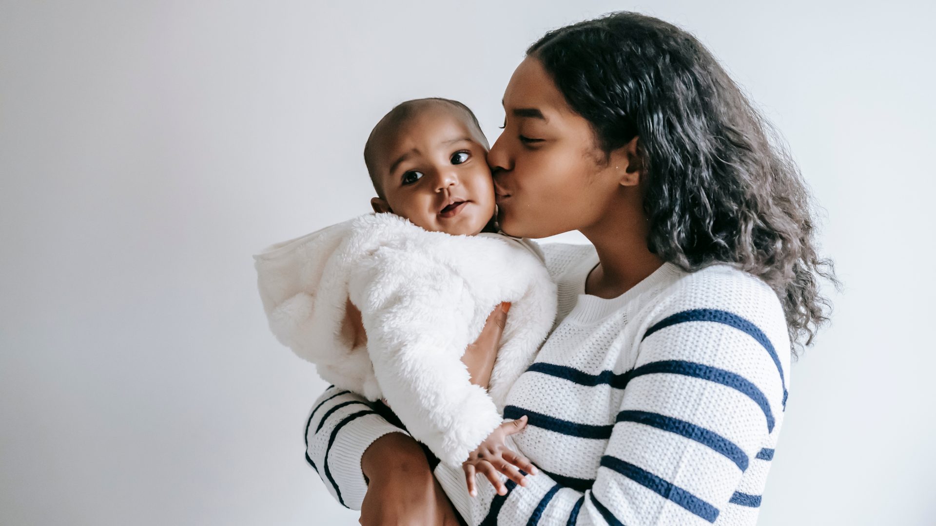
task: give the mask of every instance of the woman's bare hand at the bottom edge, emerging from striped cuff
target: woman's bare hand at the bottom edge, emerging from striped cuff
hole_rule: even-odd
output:
[[[369,480],[360,504],[362,526],[459,526],[452,504],[412,437],[391,432],[360,459]]]

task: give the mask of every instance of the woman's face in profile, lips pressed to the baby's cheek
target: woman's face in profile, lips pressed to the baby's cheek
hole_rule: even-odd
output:
[[[617,155],[597,148],[591,124],[569,108],[538,59],[514,71],[504,110],[504,133],[488,153],[501,228],[544,238],[600,222],[620,189]]]

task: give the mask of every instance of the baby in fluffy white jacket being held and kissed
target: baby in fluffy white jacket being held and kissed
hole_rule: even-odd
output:
[[[386,399],[414,438],[456,466],[501,425],[507,390],[555,317],[536,245],[488,232],[487,153],[461,103],[404,102],[364,148],[376,213],[255,256],[280,342],[335,386]],[[486,391],[461,357],[503,302],[510,315]]]

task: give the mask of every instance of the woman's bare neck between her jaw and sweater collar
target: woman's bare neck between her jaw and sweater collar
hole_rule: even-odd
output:
[[[598,266],[585,280],[585,293],[598,298],[621,296],[663,266],[664,260],[647,248],[649,234],[642,207],[613,207],[594,226],[581,233],[592,241]]]

